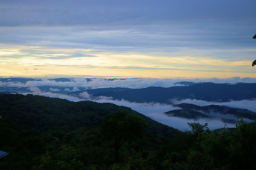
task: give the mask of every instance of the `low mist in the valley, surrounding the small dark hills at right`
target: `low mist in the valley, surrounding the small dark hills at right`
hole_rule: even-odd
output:
[[[146,115],[147,117],[156,120],[159,123],[162,123],[164,125],[168,125],[173,128],[177,128],[178,130],[186,131],[190,130],[188,123],[208,123],[208,128],[210,130],[214,130],[217,128],[223,128],[224,126],[227,128],[235,128],[235,123],[223,123],[221,118],[208,118],[208,119],[198,119],[198,120],[188,120],[186,118],[177,118],[177,117],[172,117],[169,115],[164,114],[167,111],[172,111],[175,109],[180,109],[178,107],[174,107],[172,105],[168,104],[161,104],[161,103],[134,103],[134,102],[129,102],[129,101],[118,101],[118,100],[112,100],[111,98],[97,98],[97,99],[91,99],[88,98],[89,96],[86,95],[81,95],[80,97],[78,96],[70,96],[67,94],[55,94],[53,92],[42,92],[42,91],[36,91],[33,93],[35,95],[41,95],[41,96],[48,96],[48,97],[55,97],[55,98],[63,98],[67,99],[69,101],[96,101],[99,103],[114,103],[118,106],[126,106],[129,108],[132,108],[132,110],[137,111],[139,113],[142,113],[143,115]],[[82,97],[85,97],[82,98]],[[182,101],[174,101],[174,103],[193,103],[198,106],[206,106],[210,104],[215,104],[215,105],[225,105],[225,106],[230,106],[230,107],[235,107],[235,108],[245,108],[250,111],[256,111],[255,108],[255,102],[256,101],[248,101],[248,100],[243,100],[243,101],[230,101],[230,102],[225,102],[225,103],[215,103],[215,102],[208,102],[208,101],[200,101],[200,100],[192,100],[192,99],[186,99]],[[225,115],[228,116],[228,115]],[[230,119],[234,119],[233,115],[230,115]]]

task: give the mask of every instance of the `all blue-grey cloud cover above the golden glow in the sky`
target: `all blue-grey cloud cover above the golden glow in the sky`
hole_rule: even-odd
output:
[[[1,44],[252,60],[255,4],[252,0],[3,0]],[[94,57],[81,55],[47,57]]]

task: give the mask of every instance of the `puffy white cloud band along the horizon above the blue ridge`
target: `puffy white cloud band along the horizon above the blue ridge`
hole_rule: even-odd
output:
[[[213,82],[213,83],[256,83],[256,78],[240,78],[231,77],[228,79],[151,79],[151,78],[127,78],[127,79],[107,79],[107,78],[68,78],[70,81],[55,81],[54,79],[35,79],[33,81],[26,81],[25,84],[19,81],[4,82],[0,79],[0,86],[12,86],[12,87],[33,87],[33,86],[61,86],[67,87],[66,91],[79,91],[79,87],[85,89],[99,89],[108,87],[125,87],[132,89],[141,89],[149,86],[181,86],[176,84],[180,81],[191,81],[194,83],[200,82]],[[72,88],[72,89],[70,89]]]

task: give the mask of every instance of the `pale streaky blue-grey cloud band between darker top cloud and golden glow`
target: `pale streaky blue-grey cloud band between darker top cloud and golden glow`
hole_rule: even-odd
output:
[[[0,27],[0,36],[1,43],[55,47],[56,49],[182,52],[183,55],[225,59],[235,57],[236,60],[242,56],[243,59],[251,59],[255,55],[255,41],[251,38],[255,26],[246,28],[237,27],[232,23],[226,27],[223,25],[225,24],[210,23],[210,28],[201,28],[196,23],[191,25],[188,23],[165,23],[157,26],[127,27]],[[188,26],[191,29],[188,29]],[[221,28],[217,33],[216,27]],[[43,50],[33,50],[33,54],[40,55],[43,52]],[[84,55],[90,56],[90,54]],[[170,54],[168,55],[170,56]],[[180,56],[181,54],[175,53],[174,55]]]

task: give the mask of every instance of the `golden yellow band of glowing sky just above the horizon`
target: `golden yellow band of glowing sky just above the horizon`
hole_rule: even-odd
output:
[[[5,47],[5,48],[4,48]],[[0,76],[43,77],[91,75],[102,77],[228,78],[256,77],[249,60],[223,60],[169,52],[106,52],[40,46],[3,45]]]

